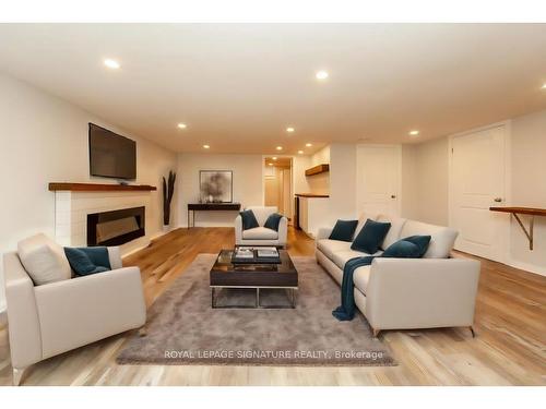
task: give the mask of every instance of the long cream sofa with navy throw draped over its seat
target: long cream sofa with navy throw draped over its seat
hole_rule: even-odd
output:
[[[479,262],[451,256],[458,232],[415,220],[363,215],[355,237],[368,218],[392,224],[382,250],[405,237],[431,236],[423,258],[378,257],[371,265],[355,270],[355,303],[368,320],[373,335],[383,329],[467,326],[474,336],[472,325]],[[351,250],[351,242],[330,240],[331,231],[332,228],[319,229],[316,256],[341,285],[345,263],[370,254]]]

